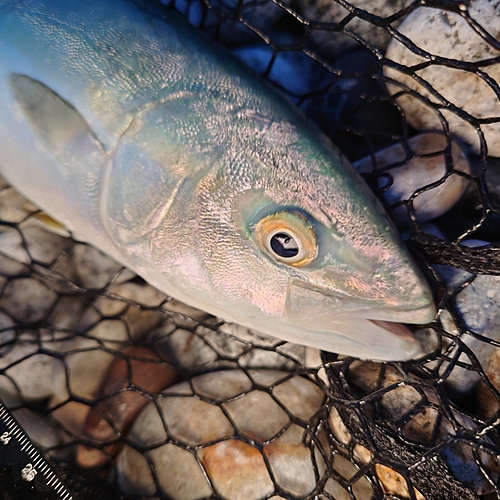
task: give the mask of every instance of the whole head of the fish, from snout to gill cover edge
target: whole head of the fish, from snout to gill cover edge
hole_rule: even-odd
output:
[[[224,113],[183,95],[137,117],[102,204],[124,262],[191,305],[285,340],[417,356],[399,323],[433,319],[425,279],[348,161],[297,111],[273,115],[275,102],[265,115]]]

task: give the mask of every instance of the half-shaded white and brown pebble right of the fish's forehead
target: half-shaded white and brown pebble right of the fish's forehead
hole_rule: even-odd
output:
[[[405,150],[405,146],[409,150]],[[408,202],[419,190],[443,179],[447,173],[446,136],[438,133],[424,133],[412,137],[403,145],[394,144],[354,163],[359,173],[383,172],[378,178],[378,187],[384,189],[387,203]],[[457,143],[451,143],[453,169],[470,174],[470,166],[465,154]],[[375,163],[374,163],[375,162]],[[389,174],[390,177],[387,177]],[[419,222],[439,217],[447,212],[463,195],[469,180],[452,173],[442,184],[423,191],[413,199],[415,215]],[[386,188],[386,186],[388,186]],[[399,205],[392,210],[396,222],[409,221],[408,207]]]

